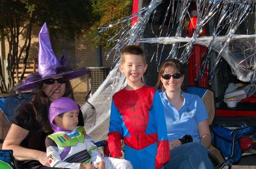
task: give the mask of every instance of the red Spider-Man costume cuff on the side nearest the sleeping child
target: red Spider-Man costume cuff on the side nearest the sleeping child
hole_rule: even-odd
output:
[[[122,157],[121,134],[119,132],[108,133],[108,147],[111,157]]]

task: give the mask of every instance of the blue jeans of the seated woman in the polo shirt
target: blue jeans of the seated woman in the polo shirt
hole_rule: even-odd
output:
[[[165,169],[212,169],[207,149],[199,143],[187,143],[171,149],[171,158]]]

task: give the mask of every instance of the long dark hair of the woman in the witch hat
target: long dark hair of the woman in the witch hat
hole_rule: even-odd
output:
[[[66,88],[63,97],[68,97],[74,100],[73,89],[70,84],[70,80],[67,76],[64,76],[64,78],[66,79]],[[44,132],[52,131],[48,121],[48,110],[51,104],[49,97],[50,96],[47,96],[43,91],[43,81],[38,82],[38,91],[35,92],[35,96],[32,99],[31,104],[35,111],[35,118],[39,124],[41,124],[42,130]]]

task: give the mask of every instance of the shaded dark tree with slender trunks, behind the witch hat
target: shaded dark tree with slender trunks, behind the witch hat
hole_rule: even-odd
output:
[[[8,77],[5,77],[9,84],[5,85],[0,64],[0,92],[8,92],[14,86],[14,74],[17,74],[21,56],[25,53],[19,80],[23,79],[33,25],[41,27],[46,22],[51,36],[64,35],[73,39],[90,27],[91,6],[90,0],[0,0],[0,37],[5,37],[9,43]],[[23,44],[19,42],[21,36],[25,37]]]

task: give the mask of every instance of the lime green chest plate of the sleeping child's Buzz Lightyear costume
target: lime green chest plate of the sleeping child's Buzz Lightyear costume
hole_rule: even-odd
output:
[[[84,143],[85,135],[84,127],[78,127],[70,133],[59,132],[48,135],[47,137],[55,141],[59,147],[69,147],[76,146],[79,142]]]

